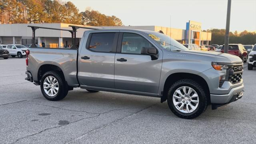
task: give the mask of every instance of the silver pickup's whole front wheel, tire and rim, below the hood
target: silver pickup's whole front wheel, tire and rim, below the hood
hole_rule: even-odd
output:
[[[170,86],[167,94],[170,110],[180,118],[196,118],[208,106],[206,92],[195,80],[178,80]]]

